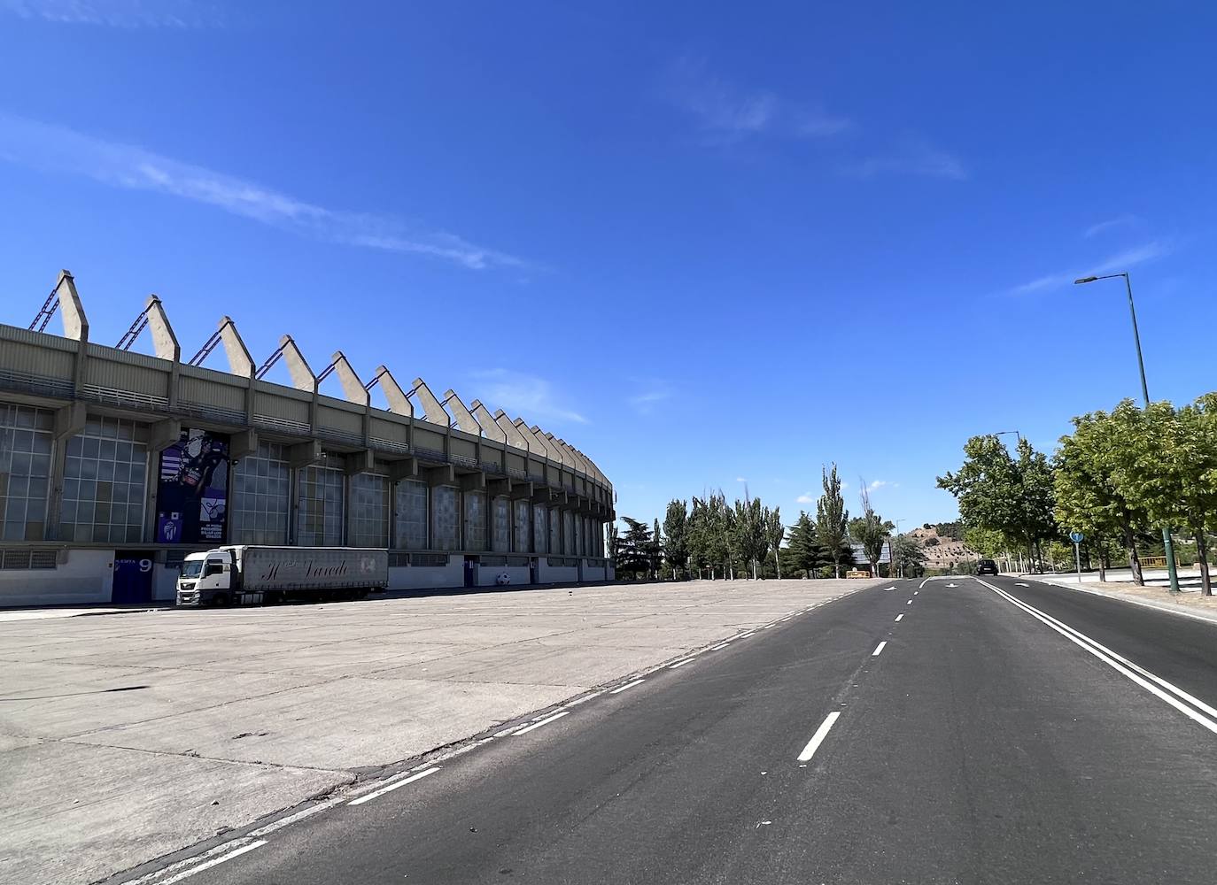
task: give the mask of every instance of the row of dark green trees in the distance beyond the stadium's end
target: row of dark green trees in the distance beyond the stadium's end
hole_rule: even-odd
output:
[[[864,484],[862,515],[851,519],[836,464],[823,470],[821,481],[823,494],[814,518],[801,511],[789,528],[783,523],[780,508],[770,508],[747,495],[729,503],[722,491],[694,497],[691,506],[683,500],[672,501],[662,526],[658,519],[647,525],[624,517],[624,535],[610,526],[617,573],[711,579],[742,573],[756,579],[764,577],[772,564],[776,577],[783,574],[840,577],[843,569],[857,564],[853,545],[858,543],[871,574],[877,575],[884,547],[890,542],[897,569],[904,568],[905,574],[924,569],[920,545],[913,537],[891,541],[894,526],[871,507]]]

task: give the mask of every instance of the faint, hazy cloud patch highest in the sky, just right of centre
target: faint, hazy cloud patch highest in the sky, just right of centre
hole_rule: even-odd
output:
[[[824,139],[853,123],[823,108],[747,90],[711,74],[703,62],[682,58],[666,78],[664,95],[689,114],[711,143],[730,143],[769,134],[790,139]]]

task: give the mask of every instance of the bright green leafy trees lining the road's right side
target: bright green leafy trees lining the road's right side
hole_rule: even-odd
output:
[[[1143,585],[1140,549],[1155,534],[1190,535],[1201,592],[1212,593],[1208,535],[1217,529],[1217,393],[1180,408],[1125,400],[1111,412],[1073,418],[1049,460],[1020,440],[1014,456],[997,436],[974,436],[955,473],[938,478],[955,495],[974,547],[1030,551],[1055,558],[1069,532],[1086,536],[1105,565],[1122,549]]]

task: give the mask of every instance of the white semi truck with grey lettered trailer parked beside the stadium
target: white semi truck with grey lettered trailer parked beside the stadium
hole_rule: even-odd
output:
[[[361,599],[387,586],[387,549],[236,545],[185,558],[178,577],[178,604]]]

